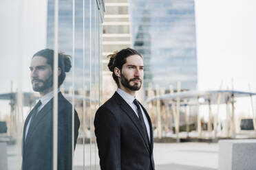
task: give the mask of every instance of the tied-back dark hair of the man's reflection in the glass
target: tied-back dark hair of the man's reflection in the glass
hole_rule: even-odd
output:
[[[34,54],[32,58],[35,56],[40,56],[43,58],[46,58],[47,64],[49,64],[52,67],[54,66],[54,50],[52,49],[42,49],[41,51],[38,51],[37,53]],[[63,84],[65,77],[66,77],[66,72],[69,72],[71,69],[71,56],[63,53],[63,52],[58,52],[58,67],[61,69],[61,75],[58,76],[58,87]]]

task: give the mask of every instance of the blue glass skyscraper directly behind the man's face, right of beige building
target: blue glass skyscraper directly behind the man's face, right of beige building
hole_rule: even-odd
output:
[[[197,58],[194,1],[129,0],[132,45],[144,56],[145,84],[195,89]]]

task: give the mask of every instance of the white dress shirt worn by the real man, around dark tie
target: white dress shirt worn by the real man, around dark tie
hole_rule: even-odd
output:
[[[122,97],[122,99],[124,99],[127,104],[129,104],[129,106],[131,106],[132,110],[134,110],[134,112],[136,113],[136,116],[139,118],[138,116],[138,110],[137,110],[137,106],[134,104],[134,99],[136,99],[136,97],[133,97],[132,95],[126,93],[124,90],[121,90],[120,88],[118,88],[116,90],[116,92]],[[149,142],[150,142],[150,127],[149,127],[149,121],[147,120],[147,116],[144,112],[144,110],[141,108],[140,106],[140,110],[142,112],[142,116],[145,122],[145,125],[147,127],[147,134],[149,136]]]

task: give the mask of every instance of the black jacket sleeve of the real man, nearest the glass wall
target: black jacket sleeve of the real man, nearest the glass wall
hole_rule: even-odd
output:
[[[116,117],[107,108],[99,108],[94,126],[101,170],[120,170],[120,125]]]

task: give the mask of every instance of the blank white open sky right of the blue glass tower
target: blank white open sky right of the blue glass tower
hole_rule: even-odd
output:
[[[195,0],[198,86],[256,90],[256,1]]]

